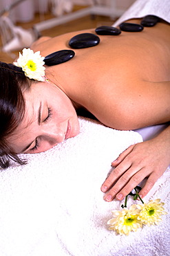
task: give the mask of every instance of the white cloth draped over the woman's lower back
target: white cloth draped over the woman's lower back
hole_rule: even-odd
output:
[[[146,15],[156,15],[170,23],[170,1],[169,0],[137,0],[118,19],[113,26],[118,26],[123,21],[133,18],[142,18]]]

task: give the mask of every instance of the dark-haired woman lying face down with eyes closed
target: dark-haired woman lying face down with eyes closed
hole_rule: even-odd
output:
[[[74,49],[72,60],[46,66],[44,82],[29,80],[21,68],[1,63],[1,167],[8,167],[10,158],[21,163],[17,153],[43,152],[76,136],[76,110],[81,108],[114,129],[169,122],[169,32],[163,21],[140,33],[102,35],[95,47]],[[42,37],[32,50],[42,56],[68,50],[70,38],[81,33],[95,31]],[[140,191],[145,196],[170,163],[169,138],[167,127],[123,152],[101,187],[104,199],[122,200],[148,177]]]

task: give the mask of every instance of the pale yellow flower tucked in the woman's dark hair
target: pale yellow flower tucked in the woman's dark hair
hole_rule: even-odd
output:
[[[43,66],[44,57],[41,57],[40,52],[34,53],[30,48],[23,49],[23,55],[19,53],[19,59],[14,62],[15,66],[19,66],[25,72],[25,76],[30,79],[44,81],[45,67]]]

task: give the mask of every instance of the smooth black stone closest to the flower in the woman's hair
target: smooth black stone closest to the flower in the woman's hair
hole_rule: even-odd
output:
[[[47,66],[54,66],[71,60],[74,55],[75,53],[72,50],[61,50],[47,55],[43,61]]]

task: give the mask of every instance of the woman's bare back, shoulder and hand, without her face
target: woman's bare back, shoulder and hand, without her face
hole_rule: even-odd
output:
[[[140,19],[130,22],[140,23]],[[45,56],[70,49],[68,41],[83,30],[32,45]],[[46,67],[47,78],[104,125],[114,129],[138,129],[170,120],[170,26],[165,22],[141,33],[100,36],[92,48],[74,49],[69,62]],[[152,140],[129,147],[112,163],[115,167],[103,183],[104,199],[122,200],[145,177],[145,196],[170,164],[170,127]]]

